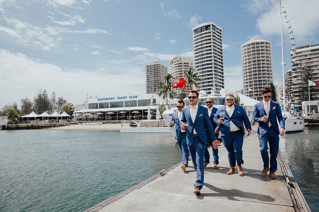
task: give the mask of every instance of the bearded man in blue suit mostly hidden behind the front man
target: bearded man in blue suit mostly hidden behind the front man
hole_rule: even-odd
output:
[[[208,116],[209,116],[209,119],[211,120],[211,125],[213,126],[215,137],[216,137],[216,139],[218,139],[219,129],[216,129],[217,124],[214,122],[214,116],[217,112],[217,108],[213,107],[213,105],[214,105],[214,100],[212,98],[207,98],[206,99],[206,106],[208,108]],[[207,141],[207,142],[211,142],[211,141]],[[218,149],[212,148],[212,150],[213,150],[213,158],[214,158],[214,168],[219,168],[219,166],[218,166],[218,164],[219,164]],[[210,163],[209,159],[210,159],[210,155],[209,155],[209,151],[206,147],[205,154],[204,154],[204,168]]]

